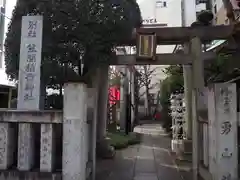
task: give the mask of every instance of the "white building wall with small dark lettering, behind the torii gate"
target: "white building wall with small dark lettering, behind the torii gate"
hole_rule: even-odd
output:
[[[143,24],[155,24],[168,27],[182,26],[181,0],[141,0],[138,2]],[[157,53],[172,53],[175,46],[158,46]],[[150,93],[159,91],[160,81],[166,78],[163,69],[167,66],[151,66],[157,68],[152,78],[152,85],[158,83]],[[145,91],[140,89],[140,93]]]

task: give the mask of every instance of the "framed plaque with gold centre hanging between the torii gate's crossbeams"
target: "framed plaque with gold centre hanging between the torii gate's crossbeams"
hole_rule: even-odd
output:
[[[137,37],[137,57],[155,59],[156,35],[138,34]]]

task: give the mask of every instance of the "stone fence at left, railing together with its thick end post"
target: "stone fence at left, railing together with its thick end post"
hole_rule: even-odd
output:
[[[79,93],[82,88],[66,88],[64,111],[0,109],[1,180],[90,177],[94,153],[89,143],[92,121],[87,119],[93,117],[89,114],[93,110],[84,106],[88,96],[85,90]],[[80,99],[73,101],[74,95]]]

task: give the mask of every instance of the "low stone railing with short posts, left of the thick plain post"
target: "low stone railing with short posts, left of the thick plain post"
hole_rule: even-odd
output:
[[[63,112],[0,109],[0,179],[62,179]],[[86,177],[89,163],[89,128]],[[67,154],[65,154],[67,156]]]

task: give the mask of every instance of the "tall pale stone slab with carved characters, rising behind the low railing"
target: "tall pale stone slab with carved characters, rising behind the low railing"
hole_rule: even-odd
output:
[[[42,28],[42,16],[22,17],[18,109],[39,109]]]

